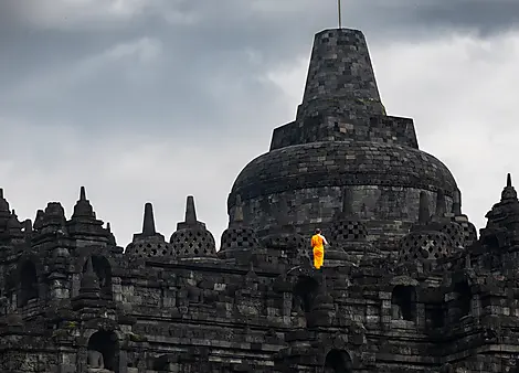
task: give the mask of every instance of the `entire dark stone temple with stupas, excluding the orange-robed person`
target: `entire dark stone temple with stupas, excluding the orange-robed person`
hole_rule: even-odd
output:
[[[21,222],[0,190],[0,372],[519,372],[519,201],[477,235],[455,179],[385,114],[364,36],[315,38],[303,103],[229,195],[123,248],[84,188]],[[309,238],[330,246],[311,266]]]

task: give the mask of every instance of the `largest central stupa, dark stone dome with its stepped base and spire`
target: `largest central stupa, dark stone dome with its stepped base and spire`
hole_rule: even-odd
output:
[[[339,29],[316,35],[296,120],[242,170],[227,205],[232,215],[240,195],[244,223],[260,236],[280,216],[308,235],[330,227],[345,186],[372,239],[409,232],[421,192],[434,211],[438,191],[447,209],[458,191],[445,164],[419,149],[413,120],[385,114],[362,32]]]

